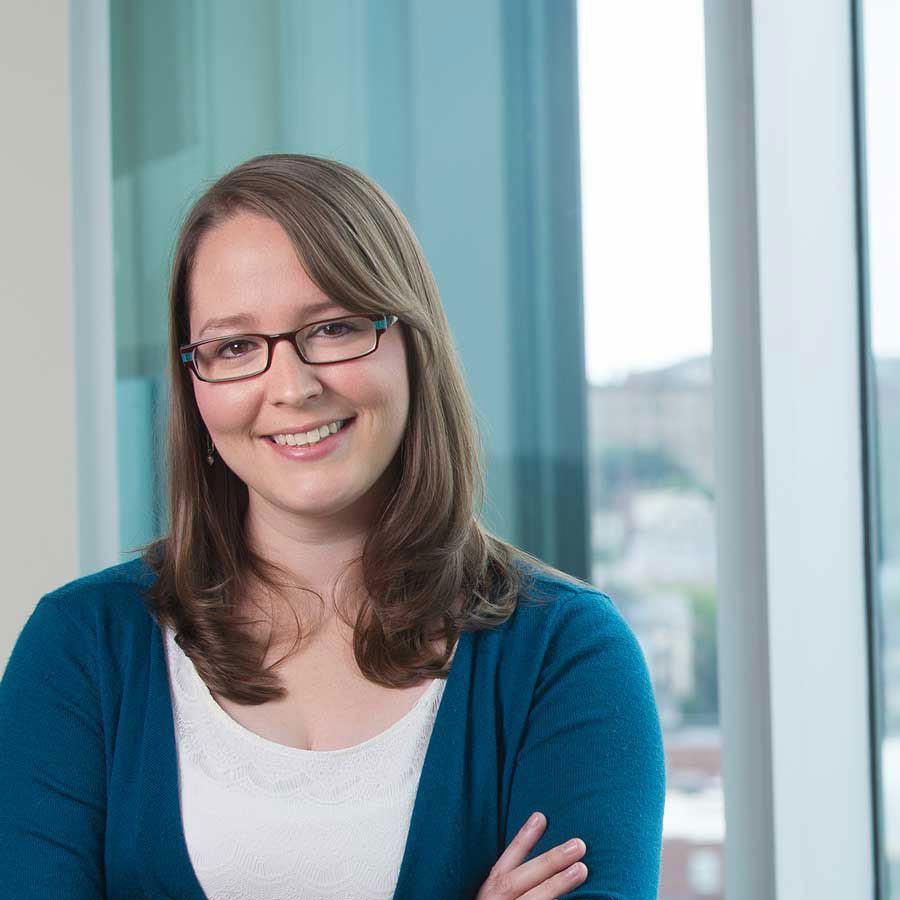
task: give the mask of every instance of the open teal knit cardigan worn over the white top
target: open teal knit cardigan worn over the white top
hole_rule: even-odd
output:
[[[191,868],[163,634],[141,560],[42,597],[0,682],[0,891],[203,900]],[[460,636],[395,900],[474,898],[535,810],[533,858],[571,837],[567,897],[651,900],[665,774],[644,657],[609,597],[541,576],[548,603]],[[352,848],[348,848],[352,853]],[[354,898],[362,900],[362,898]]]

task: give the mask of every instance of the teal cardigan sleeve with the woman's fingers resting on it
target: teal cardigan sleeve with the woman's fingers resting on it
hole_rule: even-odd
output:
[[[588,875],[566,897],[655,900],[665,758],[640,646],[605,594],[560,601],[510,793],[506,845],[535,810],[529,859],[580,837]]]

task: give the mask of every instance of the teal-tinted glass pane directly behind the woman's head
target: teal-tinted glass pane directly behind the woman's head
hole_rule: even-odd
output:
[[[111,0],[110,26],[123,551],[164,513],[179,222],[217,175],[287,149],[403,210],[481,420],[486,524],[588,577],[583,335],[550,327],[583,316],[574,3]]]

